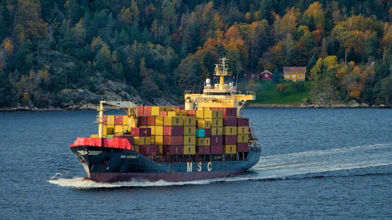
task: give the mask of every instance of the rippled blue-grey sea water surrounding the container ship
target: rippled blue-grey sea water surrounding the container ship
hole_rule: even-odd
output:
[[[117,184],[81,182],[69,149],[96,113],[0,112],[0,219],[392,218],[392,110],[246,109],[263,147],[248,172]]]

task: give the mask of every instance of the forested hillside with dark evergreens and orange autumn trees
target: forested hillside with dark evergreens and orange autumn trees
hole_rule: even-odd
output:
[[[392,105],[391,6],[390,0],[0,0],[0,107],[66,106],[69,94],[181,100],[184,89],[211,78],[223,55],[239,78],[307,66],[314,99]]]

